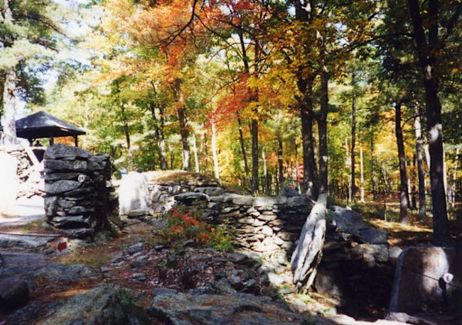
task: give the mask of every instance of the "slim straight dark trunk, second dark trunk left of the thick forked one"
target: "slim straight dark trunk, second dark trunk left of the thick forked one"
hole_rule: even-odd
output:
[[[394,133],[398,146],[399,158],[399,222],[407,224],[407,209],[409,207],[409,194],[407,192],[406,154],[404,153],[404,142],[401,128],[401,102],[395,107]]]

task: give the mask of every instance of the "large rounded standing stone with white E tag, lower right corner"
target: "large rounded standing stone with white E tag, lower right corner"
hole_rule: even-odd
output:
[[[444,294],[447,302],[455,304],[454,310],[460,311],[461,260],[461,248],[405,248],[399,255],[394,275],[390,312],[417,314],[422,309],[439,308],[444,302]],[[451,285],[444,285],[442,278],[448,272],[453,275],[453,280]]]

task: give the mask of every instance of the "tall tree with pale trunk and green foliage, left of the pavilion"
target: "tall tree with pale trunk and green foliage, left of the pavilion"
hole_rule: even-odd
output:
[[[14,118],[21,84],[18,78],[26,76],[19,67],[31,58],[52,55],[50,49],[55,50],[57,35],[64,34],[57,18],[59,9],[60,5],[51,0],[0,2],[0,72],[4,75],[1,125],[7,143],[16,142]]]

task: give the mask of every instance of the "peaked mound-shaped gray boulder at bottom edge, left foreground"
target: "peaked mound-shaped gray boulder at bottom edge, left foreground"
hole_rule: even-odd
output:
[[[126,290],[102,285],[70,297],[39,324],[151,324],[143,310],[131,304]]]

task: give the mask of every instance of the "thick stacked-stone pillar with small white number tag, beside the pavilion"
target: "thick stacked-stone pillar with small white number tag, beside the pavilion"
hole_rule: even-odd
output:
[[[45,214],[49,224],[77,238],[92,238],[118,216],[107,155],[56,144],[44,155]]]

